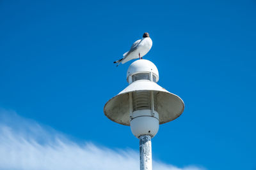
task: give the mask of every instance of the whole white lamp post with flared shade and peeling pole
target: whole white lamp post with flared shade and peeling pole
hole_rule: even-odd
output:
[[[164,124],[179,117],[184,103],[179,96],[157,85],[159,73],[149,60],[132,62],[127,70],[129,85],[104,106],[104,114],[113,122],[129,125],[140,139],[140,169],[152,169],[151,138]]]

